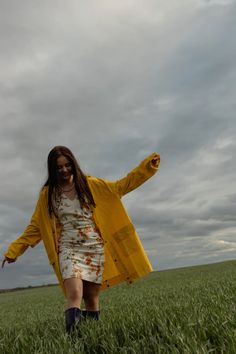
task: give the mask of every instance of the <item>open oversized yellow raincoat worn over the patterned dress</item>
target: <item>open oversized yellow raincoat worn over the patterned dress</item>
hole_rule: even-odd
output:
[[[153,153],[143,160],[128,175],[115,182],[88,176],[96,207],[93,218],[104,240],[105,267],[102,288],[126,281],[132,283],[152,271],[152,266],[146,256],[135,228],[121,202],[121,197],[140,186],[158,169],[158,163],[152,159]],[[41,240],[53,266],[59,283],[65,294],[58,260],[58,239],[60,237],[59,220],[48,212],[48,187],[40,193],[30,224],[24,233],[11,243],[5,256],[16,259],[31,246]]]

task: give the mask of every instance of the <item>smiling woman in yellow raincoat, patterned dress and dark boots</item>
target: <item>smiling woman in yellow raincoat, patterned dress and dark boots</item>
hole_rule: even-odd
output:
[[[67,147],[50,151],[48,178],[31,221],[4,254],[2,267],[43,240],[67,300],[68,333],[83,318],[99,318],[101,289],[152,271],[120,199],[150,178],[159,163],[153,153],[126,177],[110,182],[85,176]]]

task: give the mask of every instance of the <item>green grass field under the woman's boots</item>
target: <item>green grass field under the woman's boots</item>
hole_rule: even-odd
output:
[[[100,303],[71,340],[58,286],[0,294],[0,353],[236,353],[236,261],[153,272]]]

